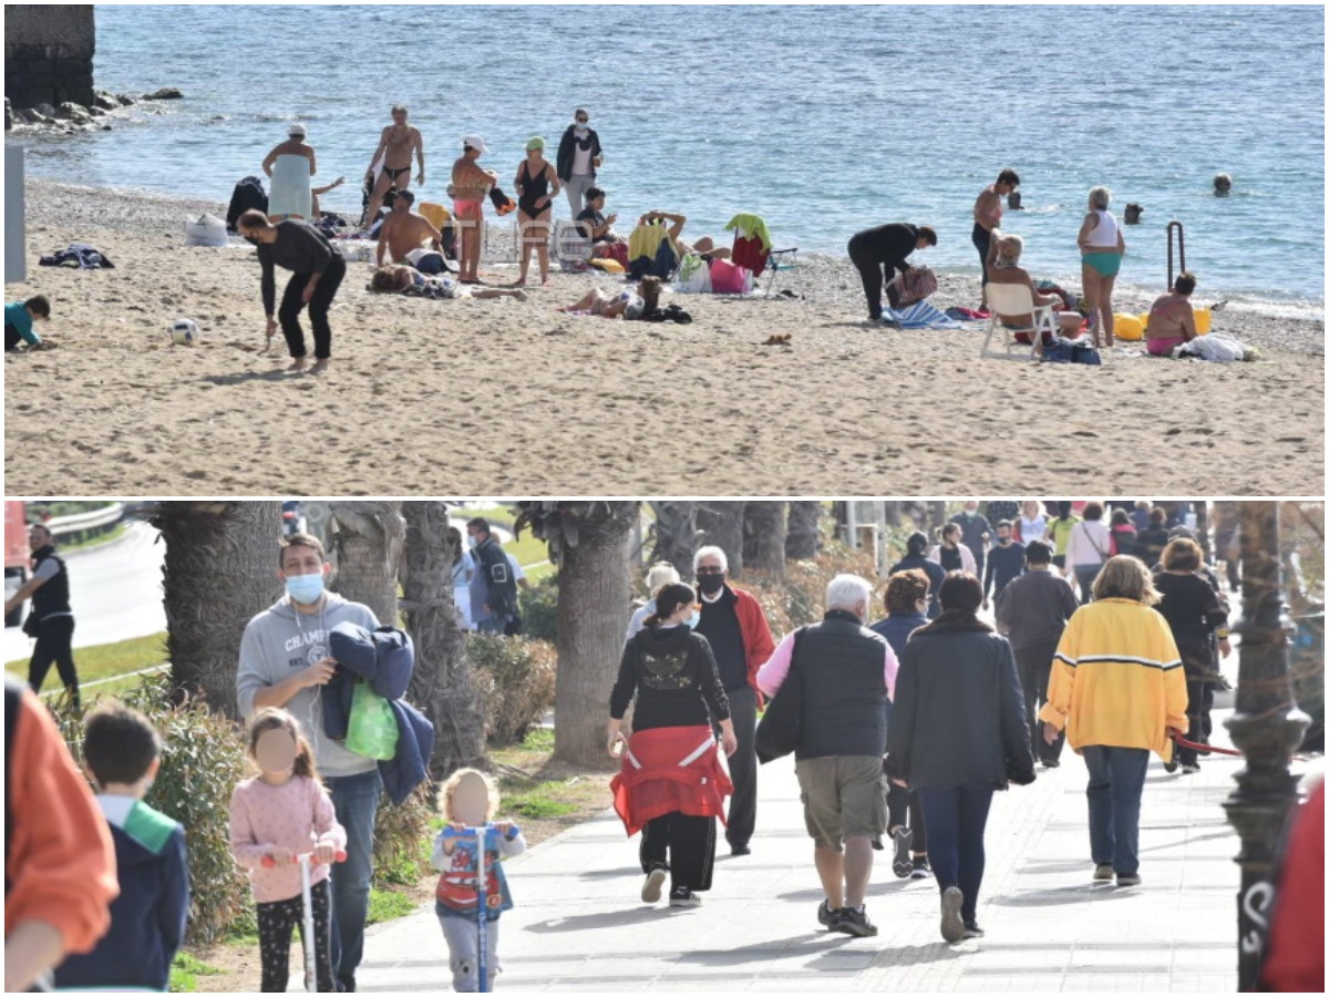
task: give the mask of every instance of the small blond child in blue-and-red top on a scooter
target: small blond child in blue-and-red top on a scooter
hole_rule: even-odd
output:
[[[500,970],[498,915],[512,909],[500,861],[526,851],[526,839],[513,822],[493,822],[498,788],[484,772],[457,770],[441,795],[448,824],[435,839],[431,861],[443,873],[435,913],[448,942],[452,988],[459,993],[489,993]]]

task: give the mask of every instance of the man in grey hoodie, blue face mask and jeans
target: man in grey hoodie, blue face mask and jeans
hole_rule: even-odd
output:
[[[279,550],[278,577],[286,596],[250,619],[241,641],[235,678],[239,710],[247,719],[264,707],[288,710],[314,748],[319,775],[347,833],[347,859],[332,869],[332,972],[339,986],[355,989],[364,954],[364,921],[373,876],[373,820],[383,783],[377,762],[347,751],[323,734],[320,693],[336,670],[328,634],[338,623],[379,626],[373,611],[327,592],[332,573],[318,537],[296,533]]]

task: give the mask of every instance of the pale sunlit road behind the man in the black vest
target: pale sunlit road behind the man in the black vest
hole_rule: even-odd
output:
[[[69,601],[74,610],[74,647],[128,641],[166,629],[162,608],[162,558],[166,545],[146,522],[130,522],[120,540],[76,550],[69,565]],[[32,639],[5,627],[4,659],[27,658]]]

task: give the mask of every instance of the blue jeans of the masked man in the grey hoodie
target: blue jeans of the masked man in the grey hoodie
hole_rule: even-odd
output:
[[[346,828],[346,861],[332,867],[332,976],[354,977],[364,957],[364,920],[373,880],[373,819],[383,780],[379,770],[324,776],[338,823]]]

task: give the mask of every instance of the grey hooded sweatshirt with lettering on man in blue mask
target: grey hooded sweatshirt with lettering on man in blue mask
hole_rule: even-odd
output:
[[[296,671],[328,657],[328,634],[338,623],[359,623],[372,630],[379,625],[373,611],[330,592],[322,613],[298,613],[287,598],[250,619],[241,639],[241,666],[235,677],[241,715],[254,715],[254,694],[275,686]],[[314,748],[320,775],[359,775],[376,766],[372,758],[347,751],[340,742],[323,736],[322,686],[302,689],[286,705],[299,720]]]

